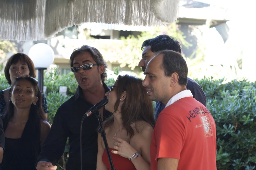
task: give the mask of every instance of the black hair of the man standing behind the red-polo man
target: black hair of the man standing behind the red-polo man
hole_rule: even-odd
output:
[[[141,50],[146,46],[151,46],[152,52],[158,52],[162,50],[173,50],[181,53],[181,43],[169,35],[158,35],[154,38],[145,40],[142,43]]]

